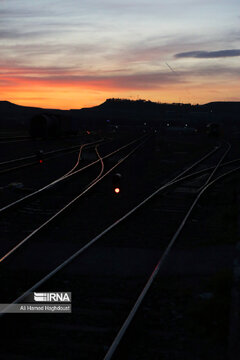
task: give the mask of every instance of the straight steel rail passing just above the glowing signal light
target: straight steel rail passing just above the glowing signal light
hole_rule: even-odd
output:
[[[95,186],[99,181],[105,178],[110,172],[112,172],[117,166],[119,166],[123,161],[125,161],[130,155],[132,155],[140,146],[142,146],[148,138],[146,138],[143,142],[138,144],[133,150],[131,150],[126,156],[120,159],[114,166],[112,166],[104,175],[100,178],[96,178],[90,185],[82,191],[79,195],[77,195],[73,200],[71,200],[67,205],[57,211],[53,216],[51,216],[48,220],[46,220],[42,225],[40,225],[37,229],[32,231],[28,236],[26,236],[23,240],[21,240],[17,245],[15,245],[11,250],[9,250],[5,255],[0,258],[0,263],[7,259],[11,254],[13,254],[20,246],[22,246],[26,241],[31,239],[34,235],[36,235],[40,230],[49,225],[54,219],[56,219],[60,214],[62,214],[66,209],[72,206],[77,200],[79,200],[83,195],[85,195],[93,186]],[[102,158],[103,160],[103,158]]]

